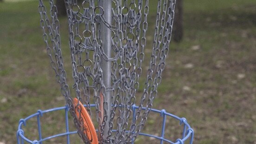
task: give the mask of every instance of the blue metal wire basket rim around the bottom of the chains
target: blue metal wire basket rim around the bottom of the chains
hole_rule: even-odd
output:
[[[91,105],[92,107],[95,105]],[[133,117],[135,116],[135,111],[136,109],[138,109],[138,106],[133,106],[132,110],[133,110]],[[142,108],[145,110],[145,108]],[[42,131],[41,131],[41,122],[40,122],[40,117],[43,117],[44,113],[51,113],[54,111],[60,111],[60,110],[65,110],[65,129],[66,131],[64,133],[59,133],[56,135],[52,135],[52,136],[48,136],[43,138],[42,137]],[[151,113],[159,113],[160,116],[162,117],[162,126],[161,126],[161,135],[160,136],[156,136],[156,135],[151,135],[151,134],[147,134],[147,133],[139,133],[140,136],[143,137],[148,137],[148,138],[155,138],[157,140],[159,140],[159,144],[163,144],[163,143],[167,143],[167,144],[184,144],[185,141],[188,141],[189,144],[192,144],[193,142],[193,137],[194,137],[194,131],[191,128],[191,126],[186,122],[185,118],[179,118],[176,115],[173,115],[171,113],[166,113],[166,111],[163,110],[156,110],[156,109],[151,109]],[[37,118],[37,131],[38,131],[38,140],[31,140],[29,138],[26,138],[25,136],[25,131],[23,130],[23,126],[26,126],[27,120],[32,119],[32,118]],[[166,139],[165,138],[165,128],[166,128],[166,119],[167,118],[171,118],[171,119],[176,119],[179,122],[181,131],[182,131],[182,137],[178,138],[175,142]],[[61,136],[65,136],[66,137],[66,144],[70,144],[70,135],[76,134],[77,131],[70,131],[69,130],[69,119],[68,119],[68,108],[67,106],[63,106],[63,107],[57,107],[57,108],[52,108],[52,109],[48,109],[45,111],[41,111],[38,110],[37,113],[34,113],[28,117],[26,117],[25,119],[20,119],[19,120],[19,126],[18,126],[18,131],[17,131],[17,144],[43,144],[44,141],[46,140],[50,140],[51,138],[57,138],[57,137],[61,137]],[[115,130],[113,130],[114,132]],[[129,131],[127,131],[129,132]],[[132,144],[135,144],[136,142],[133,142]]]

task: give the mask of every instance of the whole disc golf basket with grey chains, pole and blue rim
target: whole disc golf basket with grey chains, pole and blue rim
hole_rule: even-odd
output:
[[[45,1],[39,0],[46,51],[66,106],[38,110],[21,119],[18,144],[43,144],[59,136],[66,136],[65,143],[70,144],[70,136],[77,133],[85,144],[134,144],[138,136],[155,138],[160,144],[184,144],[185,141],[192,144],[193,130],[185,118],[152,108],[165,67],[175,5],[175,0],[155,1],[153,46],[146,48],[149,0],[65,0],[74,80],[73,90],[70,90],[61,51],[57,8],[53,0],[49,0],[50,13],[46,13]],[[151,50],[149,57],[145,56],[146,49]],[[144,74],[142,66],[148,63]],[[145,81],[140,83],[142,93],[137,93],[140,77]],[[60,110],[65,111],[66,131],[43,136],[41,117]],[[69,130],[68,112],[77,131]],[[160,118],[154,120],[160,124],[160,135],[141,131],[149,113],[159,113]],[[32,118],[37,119],[38,140],[27,138],[23,129]],[[165,137],[168,119],[176,119],[180,125],[177,127],[180,137],[174,142]]]

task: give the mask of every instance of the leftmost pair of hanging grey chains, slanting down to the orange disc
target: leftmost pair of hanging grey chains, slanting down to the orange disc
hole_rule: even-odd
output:
[[[74,119],[74,123],[78,129],[78,134],[86,144],[89,144],[88,138],[84,136],[83,130],[81,130],[81,126],[77,120],[75,115],[75,110],[72,104],[72,99],[70,97],[69,86],[66,82],[66,72],[64,70],[64,63],[61,53],[61,43],[60,43],[60,34],[59,34],[59,20],[57,17],[57,7],[53,4],[53,0],[49,0],[50,2],[50,16],[51,19],[48,18],[46,13],[46,8],[42,0],[39,0],[39,14],[40,14],[40,25],[43,29],[43,38],[46,44],[47,55],[50,58],[51,67],[55,71],[56,79],[61,87],[61,93],[65,97],[66,104],[70,109],[70,114],[76,118]],[[50,39],[49,39],[50,36]]]

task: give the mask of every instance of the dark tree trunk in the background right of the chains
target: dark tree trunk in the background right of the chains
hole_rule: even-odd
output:
[[[173,21],[173,40],[180,42],[183,37],[183,4],[182,0],[176,0],[175,14]]]

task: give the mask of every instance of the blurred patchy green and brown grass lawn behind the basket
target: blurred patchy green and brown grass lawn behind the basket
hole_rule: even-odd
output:
[[[60,23],[66,28],[65,18]],[[195,144],[256,144],[256,0],[184,0],[184,30],[183,41],[170,46],[154,108],[185,117]],[[61,36],[67,39],[65,29]],[[70,69],[68,41],[62,42]],[[37,0],[0,2],[0,62],[0,143],[15,144],[19,119],[65,104],[43,43]],[[42,127],[45,134],[64,129],[63,114],[48,115],[53,126]],[[157,131],[154,123],[149,120],[144,131]],[[167,125],[173,138],[177,124]]]

